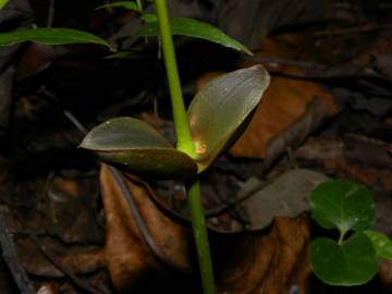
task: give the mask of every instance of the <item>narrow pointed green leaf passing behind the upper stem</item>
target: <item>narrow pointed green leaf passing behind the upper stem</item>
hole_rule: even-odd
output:
[[[209,40],[237,51],[243,51],[252,56],[250,50],[247,49],[244,45],[229,37],[219,28],[211,26],[207,23],[188,17],[171,17],[170,27],[172,35],[188,36],[193,38]],[[140,37],[159,36],[158,22],[148,22],[138,30],[136,30],[133,35]]]

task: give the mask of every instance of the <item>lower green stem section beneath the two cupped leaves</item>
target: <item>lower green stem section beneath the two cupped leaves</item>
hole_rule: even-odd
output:
[[[196,243],[203,292],[205,294],[215,294],[216,286],[213,281],[212,261],[200,195],[201,193],[199,181],[195,180],[194,182],[189,183],[189,186],[187,187],[187,199],[188,207],[191,209],[192,229]]]

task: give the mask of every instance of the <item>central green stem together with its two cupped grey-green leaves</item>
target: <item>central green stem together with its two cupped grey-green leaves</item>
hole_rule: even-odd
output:
[[[240,135],[238,130],[243,130],[241,126],[269,84],[269,75],[257,65],[220,76],[196,95],[185,112],[164,1],[157,1],[157,10],[176,148],[152,127],[131,118],[102,123],[85,137],[81,147],[133,174],[185,180],[204,292],[216,293],[197,177]]]

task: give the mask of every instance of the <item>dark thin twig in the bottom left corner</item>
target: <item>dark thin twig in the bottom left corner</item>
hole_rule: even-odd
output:
[[[15,284],[21,293],[34,294],[35,290],[28,280],[24,268],[17,262],[15,245],[12,240],[12,234],[5,225],[3,213],[0,211],[0,245],[2,256],[7,262],[8,268],[15,281]]]

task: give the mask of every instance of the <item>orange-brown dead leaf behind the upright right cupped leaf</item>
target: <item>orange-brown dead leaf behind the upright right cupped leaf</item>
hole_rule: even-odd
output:
[[[249,126],[230,152],[237,157],[266,158],[270,140],[284,131],[290,132],[315,97],[327,102],[330,108],[328,114],[336,111],[331,94],[317,84],[273,76]]]

